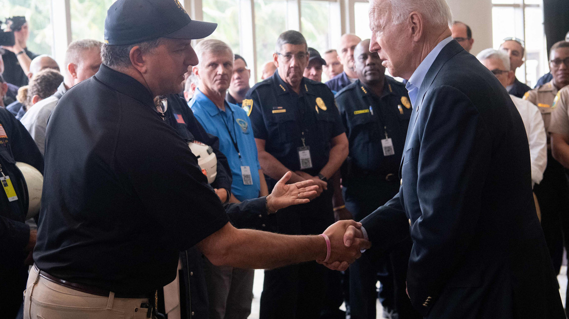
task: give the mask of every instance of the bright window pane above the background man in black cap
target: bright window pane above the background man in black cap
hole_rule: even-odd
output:
[[[328,28],[330,3],[306,0],[300,2],[300,27],[308,47],[315,48],[320,55],[331,48]]]

